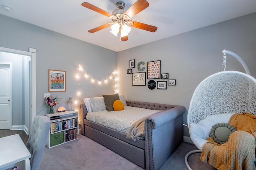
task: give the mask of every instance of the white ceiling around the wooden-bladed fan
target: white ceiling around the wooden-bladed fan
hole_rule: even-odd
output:
[[[0,14],[16,18],[113,51],[122,51],[173,35],[256,12],[256,0],[148,0],[149,7],[132,18],[154,25],[152,33],[132,27],[128,41],[110,33],[108,27],[96,33],[89,29],[112,20],[81,6],[89,2],[112,13],[120,0],[0,0]],[[137,0],[123,0],[127,10]],[[13,10],[8,12],[2,5]]]

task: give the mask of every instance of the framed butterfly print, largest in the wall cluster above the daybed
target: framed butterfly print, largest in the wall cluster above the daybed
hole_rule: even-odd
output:
[[[161,60],[148,62],[148,79],[159,79],[161,72]]]

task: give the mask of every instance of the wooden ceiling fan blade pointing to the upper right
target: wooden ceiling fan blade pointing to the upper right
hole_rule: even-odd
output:
[[[148,1],[146,0],[138,0],[135,2],[124,14],[128,15],[130,18],[144,10],[149,6]]]

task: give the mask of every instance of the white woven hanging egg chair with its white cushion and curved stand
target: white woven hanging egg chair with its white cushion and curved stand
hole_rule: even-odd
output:
[[[252,113],[256,115],[256,79],[244,61],[231,51],[224,53],[224,71],[205,78],[196,88],[188,109],[188,129],[190,138],[199,150],[188,152],[185,163],[189,170],[188,156],[202,152],[209,137],[210,129],[216,123],[228,123],[234,113]],[[244,66],[246,73],[225,71],[226,53],[232,55]]]

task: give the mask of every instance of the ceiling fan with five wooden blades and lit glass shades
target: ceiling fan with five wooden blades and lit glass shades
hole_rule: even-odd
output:
[[[131,21],[130,19],[134,17],[136,14],[144,10],[149,6],[148,2],[146,0],[138,0],[136,1],[128,10],[124,10],[125,3],[122,1],[116,2],[116,7],[118,9],[114,10],[111,13],[106,12],[88,2],[82,3],[82,6],[85,8],[88,8],[90,10],[93,10],[95,12],[98,12],[104,16],[107,16],[112,19],[113,22],[106,23],[104,25],[100,25],[99,27],[90,29],[89,33],[94,33],[96,31],[100,31],[104,28],[111,26],[111,33],[117,36],[117,34],[120,34],[120,41],[127,41],[128,40],[128,33],[130,32],[131,28],[129,26],[144,29],[146,31],[155,32],[157,30],[157,27],[148,25],[145,23],[140,23],[136,21]]]

